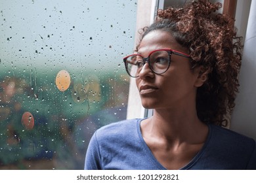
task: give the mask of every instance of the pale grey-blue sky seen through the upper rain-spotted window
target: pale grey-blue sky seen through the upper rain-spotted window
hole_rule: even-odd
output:
[[[0,64],[113,69],[133,51],[136,11],[135,0],[0,0]]]

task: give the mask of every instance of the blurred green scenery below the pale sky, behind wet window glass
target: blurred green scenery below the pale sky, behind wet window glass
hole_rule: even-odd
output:
[[[57,73],[1,71],[0,169],[83,169],[94,131],[126,118],[124,71],[83,76],[73,71],[65,92],[56,88]],[[22,126],[24,112],[33,115],[32,130]]]

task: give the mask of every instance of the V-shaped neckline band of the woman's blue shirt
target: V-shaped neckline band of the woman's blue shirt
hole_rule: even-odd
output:
[[[152,153],[152,151],[150,150],[150,148],[148,147],[148,145],[146,144],[146,142],[144,141],[143,137],[142,137],[142,133],[141,133],[141,129],[140,129],[140,123],[142,122],[142,120],[145,120],[146,118],[142,118],[142,119],[138,119],[137,120],[137,133],[139,135],[139,139],[142,142],[142,146],[144,148],[144,150],[146,151],[146,155],[149,156],[150,159],[152,159],[152,161],[154,161],[154,164],[162,170],[167,170],[165,167],[163,167],[163,165],[161,165],[161,163],[158,161],[158,159],[156,159],[156,157],[154,156],[154,154]],[[209,141],[211,140],[211,136],[212,136],[212,126],[211,124],[207,124],[208,126],[208,134],[207,134],[207,138],[205,143],[203,144],[201,150],[198,152],[198,154],[196,154],[196,156],[194,156],[193,159],[191,159],[191,161],[184,165],[184,167],[181,167],[181,169],[179,170],[186,170],[189,169],[190,167],[192,167],[192,165],[194,165],[194,163],[196,163],[200,157],[203,155],[203,152],[205,152],[205,149],[207,148],[207,145],[209,144]]]

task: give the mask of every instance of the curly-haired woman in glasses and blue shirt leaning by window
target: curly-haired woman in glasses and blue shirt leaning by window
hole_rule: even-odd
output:
[[[124,58],[154,114],[98,129],[85,169],[256,169],[255,141],[221,127],[238,92],[241,45],[219,8],[199,0],[158,11]]]

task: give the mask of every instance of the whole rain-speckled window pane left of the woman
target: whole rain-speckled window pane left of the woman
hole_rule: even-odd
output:
[[[124,120],[137,1],[1,1],[0,169],[83,169]]]

